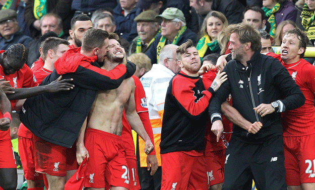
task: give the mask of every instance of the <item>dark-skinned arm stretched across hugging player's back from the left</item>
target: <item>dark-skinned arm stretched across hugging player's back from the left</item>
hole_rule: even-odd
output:
[[[30,88],[14,88],[11,90],[14,91],[14,93],[7,94],[7,97],[9,100],[18,100],[34,97],[45,92],[70,90],[74,87],[74,84],[69,83],[72,80],[72,78],[61,80],[61,76],[59,76],[56,80],[47,85],[35,86]]]

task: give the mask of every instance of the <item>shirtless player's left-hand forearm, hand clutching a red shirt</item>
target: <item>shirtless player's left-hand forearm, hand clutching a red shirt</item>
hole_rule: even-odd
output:
[[[84,134],[85,134],[85,129],[86,129],[86,124],[87,124],[87,118],[85,119],[78,138],[77,138],[77,162],[80,165],[82,163],[82,161],[84,160],[84,158],[87,156],[88,158],[90,157],[88,150],[85,148],[84,146]]]

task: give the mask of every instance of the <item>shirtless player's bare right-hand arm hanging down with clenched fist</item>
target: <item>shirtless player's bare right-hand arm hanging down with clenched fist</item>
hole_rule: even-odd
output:
[[[125,115],[131,128],[135,130],[138,133],[138,135],[145,141],[145,145],[146,145],[145,150],[144,150],[145,153],[150,154],[153,151],[154,146],[151,142],[149,135],[144,129],[144,126],[140,120],[139,115],[137,114],[136,104],[135,104],[135,83],[132,82],[132,85],[133,85],[133,89],[130,94],[129,100],[127,104],[125,104],[124,106]]]

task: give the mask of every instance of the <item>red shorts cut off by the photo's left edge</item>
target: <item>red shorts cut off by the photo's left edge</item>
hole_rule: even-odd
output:
[[[0,155],[0,168],[17,168],[10,137],[10,129],[0,131]]]

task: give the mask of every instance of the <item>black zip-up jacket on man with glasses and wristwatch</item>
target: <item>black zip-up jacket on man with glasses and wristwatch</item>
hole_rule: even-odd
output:
[[[213,95],[209,104],[209,115],[214,122],[220,118],[221,104],[231,93],[233,107],[249,122],[260,121],[262,129],[256,134],[249,134],[239,126],[233,125],[234,135],[249,142],[260,142],[270,135],[282,135],[281,116],[279,112],[293,110],[305,102],[303,93],[294,82],[289,72],[278,59],[256,51],[247,67],[239,61],[229,61],[223,69],[228,79]],[[281,100],[284,98],[283,100]],[[254,111],[260,104],[277,101],[278,113],[261,117]]]

